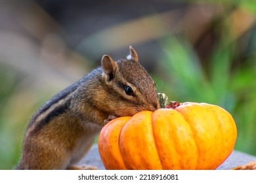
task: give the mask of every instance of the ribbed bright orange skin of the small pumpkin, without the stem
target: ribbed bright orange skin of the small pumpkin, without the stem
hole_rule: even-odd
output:
[[[106,169],[216,169],[236,136],[226,110],[187,102],[112,120],[100,132],[98,151]]]

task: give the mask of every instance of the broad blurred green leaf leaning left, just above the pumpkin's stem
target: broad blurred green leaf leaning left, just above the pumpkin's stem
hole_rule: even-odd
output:
[[[182,39],[169,37],[163,41],[164,58],[161,62],[167,78],[174,82],[177,99],[182,101],[214,100],[215,94],[192,47]],[[173,90],[170,88],[170,90]],[[199,91],[207,93],[202,95]]]

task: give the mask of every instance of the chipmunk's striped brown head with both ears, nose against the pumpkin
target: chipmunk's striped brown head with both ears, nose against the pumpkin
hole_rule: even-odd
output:
[[[132,116],[141,110],[160,108],[155,83],[140,65],[137,52],[131,46],[125,59],[115,62],[104,55],[102,69],[105,91],[108,91],[106,103],[111,103],[108,110],[115,116]]]

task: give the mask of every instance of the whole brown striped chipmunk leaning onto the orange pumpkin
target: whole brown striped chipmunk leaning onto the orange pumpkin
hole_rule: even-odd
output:
[[[57,93],[33,115],[14,169],[94,169],[75,163],[104,124],[158,108],[154,81],[131,46],[129,56],[116,62],[104,55],[101,67]]]

